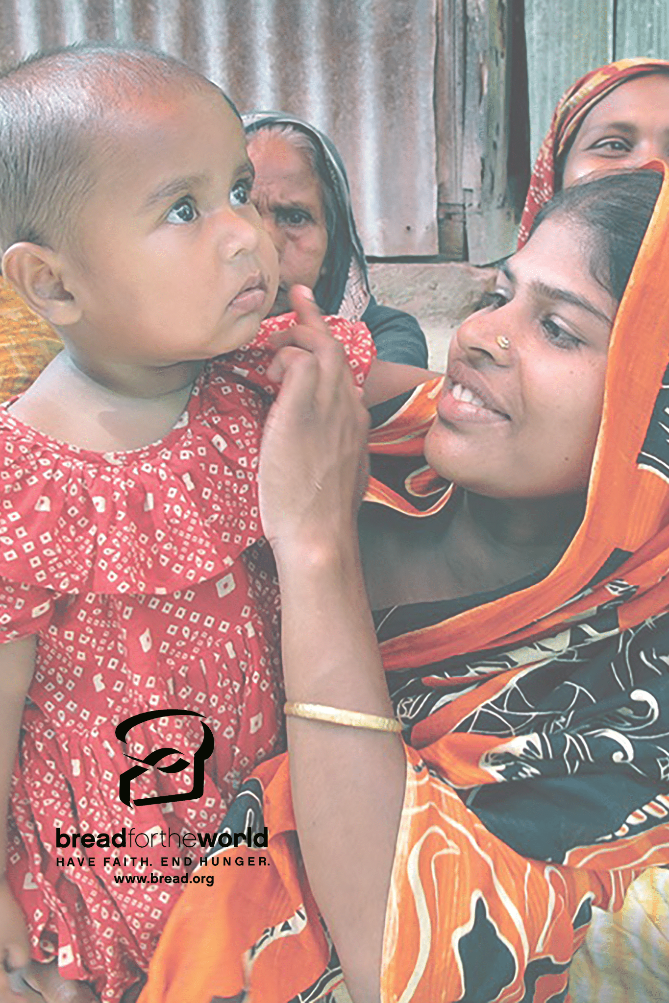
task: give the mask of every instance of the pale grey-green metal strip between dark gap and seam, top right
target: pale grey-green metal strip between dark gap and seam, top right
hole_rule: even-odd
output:
[[[635,12],[643,6],[640,0],[632,2]],[[533,160],[567,87],[613,59],[614,7],[614,0],[526,0]]]

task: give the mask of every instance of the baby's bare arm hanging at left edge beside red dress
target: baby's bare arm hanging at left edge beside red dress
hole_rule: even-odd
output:
[[[0,644],[0,1003],[17,1000],[5,969],[29,960],[23,913],[7,883],[7,811],[23,705],[35,667],[36,637]]]

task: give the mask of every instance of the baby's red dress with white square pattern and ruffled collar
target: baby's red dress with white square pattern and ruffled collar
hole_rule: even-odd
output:
[[[12,778],[9,881],[34,957],[57,950],[60,974],[94,980],[104,1001],[146,968],[181,890],[114,878],[186,874],[177,835],[215,832],[241,780],[279,748],[278,589],[256,472],[273,396],[263,341],[294,322],[266,321],[253,346],[209,363],[172,431],[138,449],[67,445],[0,406],[0,631],[5,641],[39,636]],[[374,353],[366,328],[330,326],[362,382]],[[206,716],[215,749],[204,793],[127,807],[124,753],[166,746],[192,759],[203,740],[202,718],[170,716],[118,741],[119,721],[156,708]],[[178,776],[149,769],[132,799],[190,790],[192,765]],[[125,849],[55,845],[56,827],[97,837],[123,826]],[[130,846],[130,828],[148,847]]]

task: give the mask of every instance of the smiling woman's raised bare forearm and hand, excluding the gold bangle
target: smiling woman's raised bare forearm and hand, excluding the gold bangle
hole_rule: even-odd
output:
[[[260,457],[260,508],[281,587],[286,698],[392,715],[365,595],[356,513],[367,411],[304,288]],[[275,344],[277,342],[275,341]],[[316,902],[355,1003],[378,1003],[406,762],[399,735],[290,717],[293,806]],[[351,832],[374,832],[351,840]]]

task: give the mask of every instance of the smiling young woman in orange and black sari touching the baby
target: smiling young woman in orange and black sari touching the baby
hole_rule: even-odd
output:
[[[430,466],[369,490],[373,616],[363,413],[301,339],[261,459],[289,755],[227,821],[268,826],[269,866],[188,888],[142,1003],[316,1000],[341,969],[355,1003],[564,998],[593,905],[669,861],[658,192],[564,193],[381,429],[406,453],[429,425]]]

